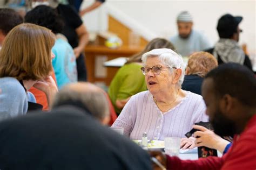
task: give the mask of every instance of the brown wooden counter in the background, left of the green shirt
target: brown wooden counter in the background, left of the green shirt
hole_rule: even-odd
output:
[[[109,86],[114,75],[119,68],[106,67],[106,77],[100,78],[95,76],[95,59],[96,56],[107,56],[107,60],[119,58],[120,56],[130,57],[133,54],[139,53],[144,47],[129,47],[122,46],[116,49],[107,48],[101,45],[88,45],[85,47],[85,63],[87,69],[87,80],[89,82],[104,82],[106,86]]]

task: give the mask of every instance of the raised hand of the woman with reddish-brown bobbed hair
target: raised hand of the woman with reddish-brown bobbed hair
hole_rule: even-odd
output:
[[[55,94],[58,92],[55,81],[52,79],[52,76],[45,77],[44,80],[37,81],[33,87],[41,90],[45,93],[48,101],[48,105],[52,104]]]

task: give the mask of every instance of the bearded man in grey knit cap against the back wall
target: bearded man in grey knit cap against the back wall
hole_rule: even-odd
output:
[[[203,51],[211,47],[210,42],[203,34],[192,29],[193,19],[188,11],[179,13],[177,26],[179,34],[171,37],[170,40],[182,56],[189,56],[193,52]]]

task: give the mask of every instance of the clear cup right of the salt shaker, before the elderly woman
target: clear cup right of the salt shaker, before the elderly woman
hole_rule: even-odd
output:
[[[180,149],[180,138],[176,138],[176,137],[164,138],[164,146],[165,146],[166,154],[170,156],[178,157],[179,149]]]

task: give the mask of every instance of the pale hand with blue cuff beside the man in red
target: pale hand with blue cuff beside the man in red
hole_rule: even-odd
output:
[[[221,138],[213,131],[206,129],[203,126],[194,125],[193,128],[199,130],[194,132],[194,137],[196,137],[195,144],[198,147],[206,146],[223,152],[227,144],[230,143],[229,141]]]

